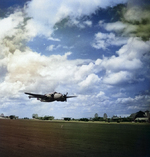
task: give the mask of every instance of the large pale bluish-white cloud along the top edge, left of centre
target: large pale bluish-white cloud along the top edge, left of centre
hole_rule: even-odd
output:
[[[70,20],[79,25],[79,18],[83,16],[91,15],[100,8],[106,8],[108,6],[115,6],[120,3],[126,3],[127,0],[94,0],[90,1],[69,1],[69,0],[55,0],[50,3],[49,0],[32,0],[28,2],[26,13],[32,19],[28,22],[28,26],[33,28],[34,32],[38,35],[51,36],[54,30],[55,24],[61,20],[70,17]],[[85,21],[84,24],[91,26],[90,21]],[[84,25],[80,24],[80,27]]]

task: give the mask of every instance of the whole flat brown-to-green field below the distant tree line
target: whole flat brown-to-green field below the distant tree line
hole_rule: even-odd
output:
[[[0,119],[0,157],[150,157],[150,124]]]

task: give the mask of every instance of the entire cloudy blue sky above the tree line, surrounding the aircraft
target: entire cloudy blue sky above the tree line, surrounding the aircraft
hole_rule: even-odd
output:
[[[150,110],[150,3],[0,2],[0,113],[128,116]],[[77,98],[43,103],[24,92]]]

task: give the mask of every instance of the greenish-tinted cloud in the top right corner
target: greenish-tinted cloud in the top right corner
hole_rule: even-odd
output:
[[[150,39],[150,4],[148,1],[128,2],[122,10],[121,21],[103,24],[107,31],[115,31],[123,36],[141,37],[142,40]]]

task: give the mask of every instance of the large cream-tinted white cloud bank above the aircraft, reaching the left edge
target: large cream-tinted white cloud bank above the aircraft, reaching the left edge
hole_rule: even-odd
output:
[[[15,38],[17,38],[17,35]],[[64,84],[66,91],[72,90],[70,87],[73,88],[76,83],[82,82],[88,75],[90,77],[93,67],[90,60],[68,60],[67,57],[71,55],[71,52],[62,56],[51,55],[47,57],[33,52],[25,45],[24,51],[21,51],[22,48],[15,45],[17,43],[14,44],[14,40],[11,41],[11,38],[7,37],[4,37],[4,39],[7,44],[1,45],[5,49],[0,64],[0,72],[2,73],[1,97],[7,96],[9,98],[12,95],[16,97],[19,92],[23,91],[46,93],[50,90],[59,89],[64,92]],[[20,39],[20,41],[18,40],[19,43],[24,38],[20,34],[18,39]],[[11,44],[8,44],[9,42]],[[12,46],[15,49],[12,49]],[[78,77],[78,75],[82,77]]]

